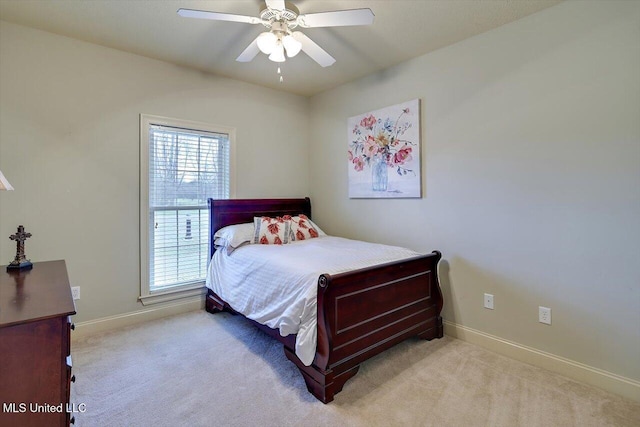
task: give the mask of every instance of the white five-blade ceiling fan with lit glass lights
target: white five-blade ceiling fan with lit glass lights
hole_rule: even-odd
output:
[[[304,33],[292,31],[293,29],[370,25],[374,17],[371,9],[336,10],[301,15],[294,5],[285,3],[284,0],[265,0],[265,3],[266,8],[260,12],[259,17],[193,9],[178,9],[178,15],[185,18],[262,24],[267,27],[268,31],[260,33],[236,58],[236,61],[249,62],[258,52],[263,52],[274,62],[284,62],[286,61],[285,52],[289,58],[292,58],[302,50],[323,67],[332,65],[336,60]]]

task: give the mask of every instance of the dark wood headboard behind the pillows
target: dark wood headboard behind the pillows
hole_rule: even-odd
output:
[[[311,200],[304,199],[208,199],[209,259],[215,250],[213,236],[222,227],[253,222],[254,216],[305,214],[311,218]]]

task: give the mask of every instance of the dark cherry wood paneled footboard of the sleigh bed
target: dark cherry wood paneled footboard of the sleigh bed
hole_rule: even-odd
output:
[[[333,400],[360,363],[410,338],[441,338],[440,252],[318,281],[318,344],[311,366],[291,349],[287,357],[307,388],[324,403]]]

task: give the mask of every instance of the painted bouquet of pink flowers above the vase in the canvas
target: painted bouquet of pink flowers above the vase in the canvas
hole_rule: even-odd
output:
[[[404,134],[411,123],[403,121],[403,116],[409,114],[409,108],[403,108],[400,115],[393,120],[391,117],[376,117],[365,115],[351,131],[353,137],[349,142],[349,162],[356,172],[371,166],[374,160],[381,160],[388,167],[396,168],[399,175],[413,174],[407,164],[413,159],[413,141],[404,139]]]

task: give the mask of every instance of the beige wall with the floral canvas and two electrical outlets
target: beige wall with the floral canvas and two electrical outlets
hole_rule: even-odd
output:
[[[640,380],[639,22],[567,2],[313,97],[314,219],[441,250],[449,322]],[[424,197],[350,200],[347,118],[414,98]]]

